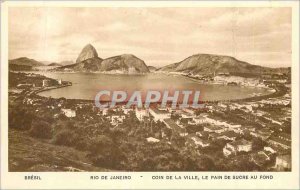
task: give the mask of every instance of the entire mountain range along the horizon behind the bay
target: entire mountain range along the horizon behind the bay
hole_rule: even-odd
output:
[[[97,50],[91,45],[84,46],[75,62],[69,65],[51,63],[50,66],[57,66],[51,71],[74,71],[74,72],[109,72],[109,73],[149,73],[151,72],[180,72],[186,74],[254,74],[263,73],[290,73],[290,67],[270,68],[260,65],[253,65],[240,61],[232,56],[216,54],[194,54],[182,61],[172,63],[161,68],[147,66],[143,60],[133,54],[122,54],[102,59],[98,56]],[[46,66],[40,61],[27,57],[20,57],[9,60],[12,70],[31,70],[34,67]]]

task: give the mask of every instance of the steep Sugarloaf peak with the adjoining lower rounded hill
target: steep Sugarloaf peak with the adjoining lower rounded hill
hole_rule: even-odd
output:
[[[75,64],[55,68],[54,71],[148,73],[149,69],[143,60],[131,54],[101,59],[96,49],[88,44],[82,49]]]

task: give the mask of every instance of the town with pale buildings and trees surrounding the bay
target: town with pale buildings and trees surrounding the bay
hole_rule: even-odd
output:
[[[10,171],[291,171],[290,74],[168,74],[271,90],[200,109],[99,109],[38,95],[71,82],[9,72]]]

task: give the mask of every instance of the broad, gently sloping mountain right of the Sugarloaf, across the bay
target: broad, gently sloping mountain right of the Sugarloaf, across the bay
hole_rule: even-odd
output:
[[[192,74],[261,74],[264,72],[274,72],[275,70],[278,69],[252,65],[230,56],[212,54],[196,54],[181,62],[173,63],[159,69],[159,71],[164,72],[183,72]],[[286,70],[286,68],[283,68],[283,71]]]

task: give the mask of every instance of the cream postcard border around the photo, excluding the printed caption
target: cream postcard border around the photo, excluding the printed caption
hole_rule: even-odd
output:
[[[8,172],[8,7],[292,7],[292,172]],[[299,189],[299,2],[298,1],[102,1],[2,2],[1,6],[1,189]],[[270,175],[273,180],[152,180],[153,175]],[[131,175],[131,181],[92,181],[91,175]],[[144,177],[141,179],[140,175]]]

